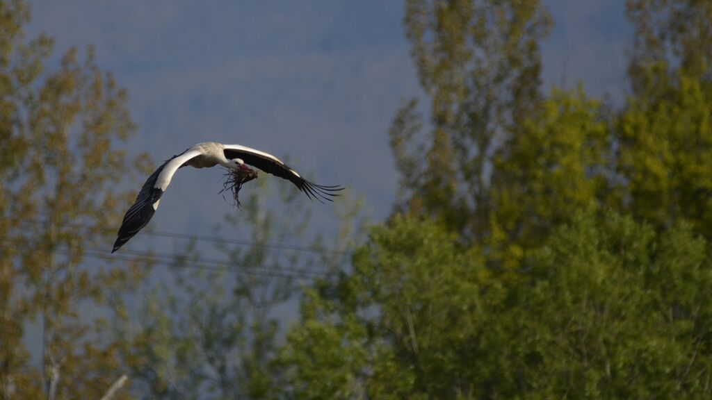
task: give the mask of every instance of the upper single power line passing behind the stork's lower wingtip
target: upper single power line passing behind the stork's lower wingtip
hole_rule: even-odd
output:
[[[85,225],[85,224],[81,224],[81,223],[53,223],[51,221],[43,221],[43,220],[39,220],[39,219],[19,219],[19,218],[11,218],[11,217],[0,217],[0,219],[3,219],[5,221],[15,221],[15,222],[19,222],[19,223],[36,223],[39,225],[56,225],[56,226],[62,226],[65,228],[87,229],[89,231],[105,231],[105,232],[112,232],[112,233],[115,231],[110,228],[100,228],[97,226],[89,226],[89,225]],[[167,232],[167,231],[142,231],[142,234],[148,235],[148,236],[164,237],[164,238],[177,238],[177,239],[194,240],[194,241],[201,241],[201,242],[234,244],[237,246],[253,246],[253,247],[261,247],[261,248],[274,248],[274,249],[278,249],[278,250],[291,250],[291,251],[304,251],[304,252],[309,252],[309,253],[332,254],[332,255],[336,255],[336,256],[344,256],[344,255],[348,255],[351,253],[350,251],[327,250],[327,249],[323,249],[323,248],[291,245],[288,243],[258,243],[255,241],[246,241],[246,240],[241,240],[241,239],[221,238],[219,236],[190,235],[187,233],[174,233],[174,232]]]

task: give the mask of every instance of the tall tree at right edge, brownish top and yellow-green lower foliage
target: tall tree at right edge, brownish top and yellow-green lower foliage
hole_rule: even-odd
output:
[[[630,0],[632,95],[615,121],[619,204],[668,228],[712,227],[712,4]]]

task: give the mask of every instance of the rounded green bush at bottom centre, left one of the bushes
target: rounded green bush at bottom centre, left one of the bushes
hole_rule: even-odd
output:
[[[461,366],[471,354],[460,350],[486,271],[452,239],[430,221],[373,228],[353,273],[323,288],[328,297],[312,291],[303,302],[281,356],[287,396],[419,398],[468,382]]]

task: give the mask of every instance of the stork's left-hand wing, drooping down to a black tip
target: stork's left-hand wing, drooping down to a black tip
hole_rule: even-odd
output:
[[[163,192],[166,191],[168,185],[171,183],[173,174],[175,174],[177,169],[185,162],[199,154],[201,153],[198,150],[189,149],[177,156],[173,156],[146,179],[141,191],[138,193],[138,196],[136,196],[136,201],[124,215],[124,220],[121,223],[121,228],[119,228],[118,236],[114,242],[114,248],[111,251],[112,253],[117,251],[124,243],[146,226],[156,212],[156,209],[158,209],[158,203]]]

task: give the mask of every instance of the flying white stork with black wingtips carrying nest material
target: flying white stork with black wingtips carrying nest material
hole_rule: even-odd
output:
[[[261,152],[250,147],[239,144],[221,144],[217,142],[199,143],[190,147],[181,154],[175,155],[166,160],[158,169],[151,174],[143,184],[141,191],[136,196],[135,203],[126,211],[124,219],[119,228],[114,248],[114,253],[124,245],[130,238],[138,233],[153,214],[158,209],[163,192],[168,188],[173,174],[182,167],[190,166],[195,168],[214,167],[217,164],[225,167],[231,180],[226,182],[226,189],[230,185],[237,201],[237,191],[241,184],[257,177],[255,170],[247,164],[261,169],[263,172],[276,177],[288,179],[295,184],[300,191],[303,191],[310,199],[319,201],[332,201],[330,197],[337,196],[337,191],[344,189],[341,186],[323,186],[313,184],[301,177],[294,169],[281,162],[280,159],[266,152]],[[322,201],[323,202],[323,201]],[[239,201],[237,201],[239,205]]]

